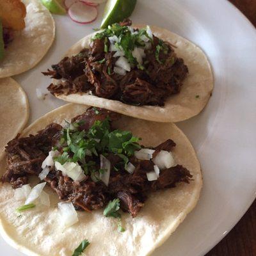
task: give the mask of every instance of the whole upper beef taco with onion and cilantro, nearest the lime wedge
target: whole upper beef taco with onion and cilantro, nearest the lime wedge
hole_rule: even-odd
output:
[[[128,20],[84,37],[52,70],[56,97],[156,122],[197,115],[213,88],[211,66],[195,44]]]

